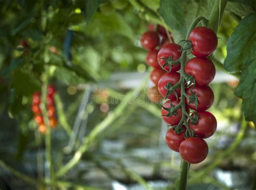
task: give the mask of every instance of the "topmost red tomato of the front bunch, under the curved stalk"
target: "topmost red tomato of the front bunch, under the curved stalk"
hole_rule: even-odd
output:
[[[191,53],[200,58],[211,55],[218,45],[218,38],[216,34],[206,26],[194,28],[191,31],[188,40],[191,41],[193,46]]]

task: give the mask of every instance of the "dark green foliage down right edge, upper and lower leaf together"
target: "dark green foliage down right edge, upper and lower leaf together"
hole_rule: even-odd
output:
[[[256,124],[256,13],[246,16],[235,28],[227,43],[224,67],[229,72],[241,72],[235,95],[242,98],[247,121]]]

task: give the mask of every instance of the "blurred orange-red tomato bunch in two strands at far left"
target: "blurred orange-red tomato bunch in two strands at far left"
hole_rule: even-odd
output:
[[[53,96],[55,94],[55,88],[53,86],[49,86],[47,88],[48,94],[46,97],[47,109],[48,109],[48,117],[49,117],[49,125],[51,128],[55,128],[57,125],[57,118],[56,118],[56,110],[55,110],[55,102]],[[42,110],[40,108],[41,103],[41,93],[35,92],[32,97],[32,111],[35,114],[35,122],[38,125],[38,130],[42,134],[46,132],[46,125],[44,123],[44,119],[42,116]]]

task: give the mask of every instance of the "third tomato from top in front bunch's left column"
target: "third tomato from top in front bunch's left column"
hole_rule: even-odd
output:
[[[180,101],[176,101],[176,100],[173,100],[173,101],[167,101],[163,104],[163,107],[164,108],[170,108],[171,107],[171,103],[173,104],[173,107],[176,107],[176,105],[178,105]],[[164,115],[168,115],[169,114],[169,111],[165,110],[164,108],[161,108],[161,115],[162,115],[162,118],[163,120],[169,124],[169,125],[177,125],[179,124],[180,122],[180,119],[182,117],[182,110],[181,110],[181,107],[179,109],[176,110],[176,113],[177,115],[173,115],[173,116],[164,116]]]

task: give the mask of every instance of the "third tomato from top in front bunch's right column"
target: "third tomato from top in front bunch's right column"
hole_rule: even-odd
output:
[[[187,95],[191,96],[191,89],[192,87],[186,89]],[[208,86],[196,86],[194,89],[192,89],[192,92],[198,96],[198,105],[197,108],[194,105],[194,103],[188,103],[189,100],[186,98],[186,103],[189,108],[197,111],[205,111],[209,109],[214,101],[214,94],[212,92],[212,89]]]

